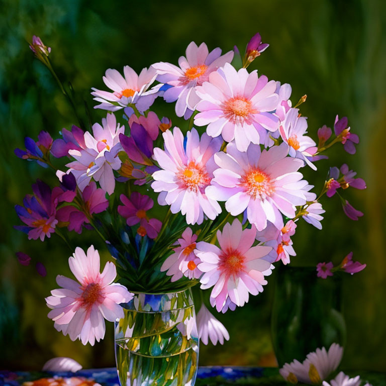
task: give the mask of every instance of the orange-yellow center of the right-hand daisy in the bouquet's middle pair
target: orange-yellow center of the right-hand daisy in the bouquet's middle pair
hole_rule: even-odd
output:
[[[241,177],[240,186],[253,199],[264,200],[270,197],[274,191],[274,186],[268,174],[260,169],[251,169]]]

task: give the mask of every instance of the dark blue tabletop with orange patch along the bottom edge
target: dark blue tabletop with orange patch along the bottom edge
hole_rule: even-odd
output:
[[[361,375],[372,386],[386,386],[386,374],[368,371],[348,371],[350,376]],[[44,379],[43,379],[44,378]],[[0,371],[0,386],[119,386],[116,368],[82,369],[72,372]],[[201,366],[196,386],[285,385],[276,367]]]

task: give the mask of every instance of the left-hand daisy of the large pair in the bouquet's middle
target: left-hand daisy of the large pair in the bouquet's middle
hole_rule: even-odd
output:
[[[186,150],[181,130],[162,134],[165,150],[154,148],[153,158],[163,170],[152,174],[151,187],[160,192],[158,203],[170,205],[171,213],[186,215],[187,224],[202,224],[204,214],[211,220],[221,213],[215,200],[205,195],[216,164],[213,154],[220,150],[221,139],[207,134],[200,136],[196,129],[187,132]]]

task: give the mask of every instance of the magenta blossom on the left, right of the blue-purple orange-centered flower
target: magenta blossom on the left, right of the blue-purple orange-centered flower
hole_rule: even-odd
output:
[[[56,218],[62,223],[68,223],[68,230],[76,233],[82,232],[83,224],[89,223],[88,218],[94,213],[104,212],[109,207],[106,192],[96,187],[91,181],[82,191],[83,206],[81,210],[75,206],[67,205],[58,209]]]

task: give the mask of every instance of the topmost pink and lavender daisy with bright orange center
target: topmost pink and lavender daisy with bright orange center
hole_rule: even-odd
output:
[[[233,51],[221,56],[221,49],[215,48],[209,52],[205,43],[199,47],[191,42],[186,48],[186,58],[178,59],[179,67],[171,63],[159,62],[153,64],[157,70],[157,80],[171,86],[166,89],[163,98],[166,102],[175,102],[175,113],[178,117],[188,119],[200,101],[195,87],[208,80],[209,74],[231,62]]]

